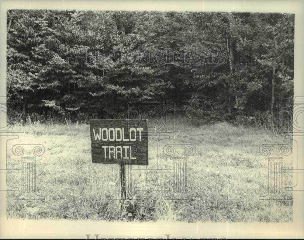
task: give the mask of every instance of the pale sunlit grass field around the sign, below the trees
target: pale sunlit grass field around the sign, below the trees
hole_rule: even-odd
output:
[[[259,200],[268,192],[268,161],[259,154],[261,144],[289,143],[284,136],[228,123],[192,126],[177,122],[176,133],[166,143],[194,144],[196,153],[187,160],[187,199],[167,200],[157,183],[170,187],[169,178],[147,177],[151,187],[128,193],[126,206],[111,199],[117,193],[117,165],[92,164],[89,125],[33,124],[18,140],[8,141],[8,168],[20,169],[21,158],[12,154],[14,144],[43,144],[36,159],[37,193],[45,201],[12,200],[20,193],[9,191],[10,218],[71,219],[96,221],[240,221],[290,222],[291,201]],[[159,154],[162,167],[172,169],[168,156]],[[157,148],[149,143],[149,166],[157,166]],[[142,168],[140,166],[139,168]],[[292,168],[292,155],[283,168]],[[145,176],[132,176],[132,186],[144,186]],[[20,174],[8,174],[10,186],[21,186]],[[292,186],[284,174],[283,188]],[[135,195],[136,194],[136,195]],[[286,192],[290,195],[290,192]],[[134,204],[135,203],[135,204]],[[127,207],[129,206],[129,207]],[[128,210],[126,210],[128,209]]]

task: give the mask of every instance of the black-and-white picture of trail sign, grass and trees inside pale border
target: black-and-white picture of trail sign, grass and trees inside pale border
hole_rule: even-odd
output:
[[[70,3],[5,9],[7,220],[294,223],[294,13]]]

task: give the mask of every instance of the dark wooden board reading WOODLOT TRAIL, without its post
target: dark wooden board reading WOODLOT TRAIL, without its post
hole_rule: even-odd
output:
[[[147,121],[137,119],[90,120],[92,163],[148,165]]]

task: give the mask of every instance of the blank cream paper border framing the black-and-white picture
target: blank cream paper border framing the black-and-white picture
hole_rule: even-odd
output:
[[[6,99],[6,10],[77,9],[128,11],[203,11],[203,12],[284,12],[295,14],[294,96],[304,96],[304,1],[0,1],[1,11],[1,100]],[[6,116],[1,118],[6,123]],[[2,125],[3,126],[3,125]],[[9,134],[17,135],[17,134]],[[304,135],[304,134],[302,134]],[[298,146],[304,143],[298,142]],[[295,145],[295,143],[294,143]],[[6,140],[0,139],[0,169],[6,168]],[[303,152],[301,152],[303,153]],[[303,156],[294,154],[294,166]],[[2,175],[0,177],[2,179]],[[294,175],[294,185],[296,183]],[[1,180],[0,180],[1,181]],[[300,186],[300,187],[301,187]],[[0,192],[0,238],[304,238],[304,191],[293,191],[292,223],[260,222],[108,222],[69,220],[7,219],[6,191]]]

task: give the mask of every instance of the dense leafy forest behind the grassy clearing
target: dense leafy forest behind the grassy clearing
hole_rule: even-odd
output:
[[[293,14],[7,11],[7,101],[31,121],[126,118],[159,96],[194,124],[275,124],[293,61]]]

